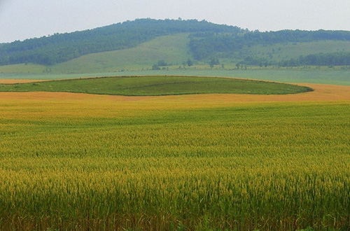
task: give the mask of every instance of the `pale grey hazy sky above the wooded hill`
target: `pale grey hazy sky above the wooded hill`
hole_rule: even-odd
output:
[[[0,43],[136,18],[205,19],[260,31],[350,31],[350,0],[0,0]]]

